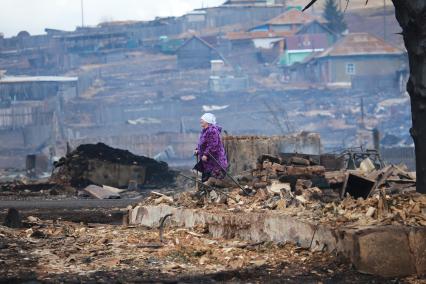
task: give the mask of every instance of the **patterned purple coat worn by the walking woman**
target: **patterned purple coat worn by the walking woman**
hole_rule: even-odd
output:
[[[207,156],[207,161],[203,162],[204,171],[211,173],[215,178],[224,178],[225,173],[217,165],[217,163],[210,157],[211,154],[224,168],[228,168],[228,160],[225,154],[225,148],[223,147],[220,139],[220,133],[222,127],[217,125],[209,125],[209,127],[201,130],[200,140],[198,142],[198,157],[201,159],[203,155]]]

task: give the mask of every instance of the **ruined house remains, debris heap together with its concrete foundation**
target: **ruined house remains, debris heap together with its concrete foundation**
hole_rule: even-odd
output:
[[[370,158],[355,167],[329,171],[309,155],[262,155],[239,176],[244,190],[205,188],[201,200],[154,194],[129,208],[128,222],[155,227],[170,215],[175,226],[205,226],[214,237],[335,251],[365,273],[424,274],[426,198],[415,177]]]

